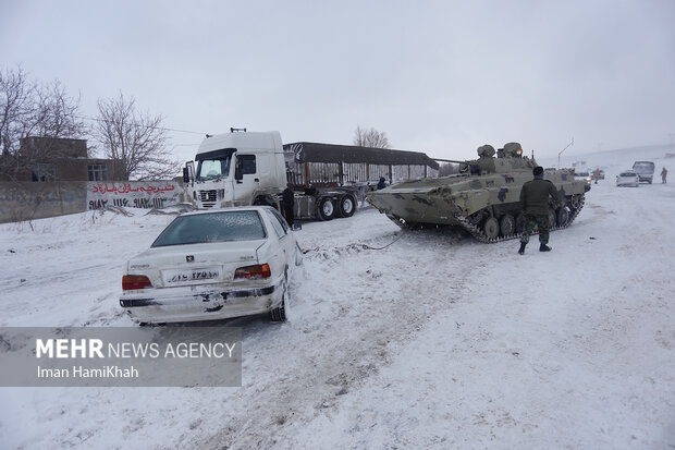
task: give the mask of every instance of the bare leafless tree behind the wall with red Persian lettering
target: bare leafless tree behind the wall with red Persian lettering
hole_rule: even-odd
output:
[[[163,118],[136,111],[136,99],[118,98],[98,101],[95,137],[103,146],[107,158],[122,166],[122,177],[136,180],[159,180],[174,177],[180,163],[170,159],[165,148],[167,130]]]

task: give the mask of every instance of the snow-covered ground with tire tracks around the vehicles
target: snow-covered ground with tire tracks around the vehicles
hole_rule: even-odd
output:
[[[304,223],[291,321],[223,324],[241,388],[0,388],[0,447],[674,449],[675,184],[598,158],[548,254],[372,208]],[[0,326],[132,326],[123,264],[171,220],[145,212],[0,226]]]

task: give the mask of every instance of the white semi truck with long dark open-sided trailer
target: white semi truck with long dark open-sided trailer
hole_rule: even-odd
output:
[[[196,162],[196,167],[195,167]],[[297,219],[351,217],[383,177],[388,183],[438,175],[424,153],[298,142],[281,134],[246,132],[207,137],[183,170],[198,209],[244,205],[279,207],[291,182]]]

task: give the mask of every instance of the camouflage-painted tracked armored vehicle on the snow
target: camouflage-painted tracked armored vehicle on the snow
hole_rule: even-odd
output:
[[[520,188],[532,180],[533,158],[523,156],[518,143],[508,143],[494,157],[494,148],[478,148],[479,158],[459,163],[459,173],[422,179],[368,193],[366,199],[402,228],[427,226],[462,227],[478,241],[493,243],[516,239],[525,215]],[[567,228],[584,207],[590,190],[586,180],[575,180],[574,169],[545,169],[563,205],[550,205],[551,230]]]

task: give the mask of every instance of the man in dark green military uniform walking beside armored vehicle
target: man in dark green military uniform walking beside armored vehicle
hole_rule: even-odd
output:
[[[543,168],[538,166],[532,170],[535,180],[528,181],[520,190],[520,205],[525,212],[525,229],[520,238],[518,254],[525,254],[525,246],[530,240],[535,227],[539,228],[539,251],[550,252],[549,243],[549,196],[561,203],[561,196],[555,185],[543,179]]]

